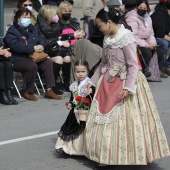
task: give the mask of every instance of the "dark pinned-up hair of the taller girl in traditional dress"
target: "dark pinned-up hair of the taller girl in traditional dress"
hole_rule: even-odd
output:
[[[108,7],[108,11],[101,9],[96,15],[96,18],[100,19],[102,22],[107,23],[108,20],[111,20],[115,24],[119,23],[120,17],[121,15],[119,10],[116,10],[112,7]]]

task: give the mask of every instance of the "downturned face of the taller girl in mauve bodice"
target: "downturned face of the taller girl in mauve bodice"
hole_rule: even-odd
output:
[[[106,22],[102,22],[99,18],[96,18],[96,24],[98,25],[99,27],[99,30],[104,34],[104,35],[110,35],[110,23],[109,21],[106,23]]]

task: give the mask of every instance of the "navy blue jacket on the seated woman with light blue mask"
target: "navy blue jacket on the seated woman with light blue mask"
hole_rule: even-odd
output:
[[[38,34],[38,28],[30,25],[27,30],[20,27],[18,22],[14,20],[4,38],[6,48],[10,48],[12,53],[11,61],[17,62],[28,57],[28,54],[35,52],[34,46],[42,45],[45,47],[43,39]]]

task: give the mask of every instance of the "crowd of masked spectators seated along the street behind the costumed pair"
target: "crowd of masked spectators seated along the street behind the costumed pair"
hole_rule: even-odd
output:
[[[45,79],[45,97],[61,99],[60,95],[69,91],[70,82],[74,80],[72,63],[81,56],[92,69],[101,58],[101,47],[87,40],[87,34],[89,20],[94,21],[96,13],[102,8],[107,10],[107,6],[119,10],[120,23],[134,33],[137,57],[140,56],[139,62],[148,81],[161,81],[170,76],[170,0],[159,0],[151,15],[148,0],[83,0],[84,29],[71,16],[73,4],[71,0],[18,0],[13,25],[4,38],[7,49],[0,48],[0,69],[3,70],[0,103],[18,104],[11,95],[12,70],[24,74],[24,98],[38,99],[34,95],[34,82],[40,72]],[[49,57],[34,63],[28,58],[34,52],[46,52]],[[8,65],[10,71],[4,70],[4,65]],[[61,70],[62,87],[57,82]]]

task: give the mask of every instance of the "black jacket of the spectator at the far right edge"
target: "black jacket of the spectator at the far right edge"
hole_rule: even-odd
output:
[[[157,4],[151,15],[155,37],[164,38],[170,33],[170,16],[164,4]]]

